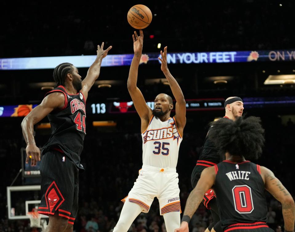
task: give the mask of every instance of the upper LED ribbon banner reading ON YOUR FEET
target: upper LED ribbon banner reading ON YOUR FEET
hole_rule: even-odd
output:
[[[142,54],[140,64],[159,64],[159,53]],[[0,70],[54,69],[61,63],[69,62],[77,68],[86,68],[96,56],[55,56],[32,58],[0,58]],[[133,54],[107,55],[102,67],[129,66]],[[169,64],[234,63],[234,62],[274,62],[295,61],[295,50],[257,50],[229,52],[181,52],[168,53]]]

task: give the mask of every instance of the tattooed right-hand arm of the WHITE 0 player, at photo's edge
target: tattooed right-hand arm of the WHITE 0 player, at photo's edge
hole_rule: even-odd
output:
[[[285,231],[294,231],[295,204],[293,197],[271,170],[263,166],[260,167],[260,170],[261,176],[265,180],[265,189],[282,204]]]

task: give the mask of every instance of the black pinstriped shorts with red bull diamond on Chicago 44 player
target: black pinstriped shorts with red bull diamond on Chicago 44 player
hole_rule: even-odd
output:
[[[41,160],[41,203],[39,214],[69,219],[74,224],[78,212],[79,170],[65,154],[47,151]]]

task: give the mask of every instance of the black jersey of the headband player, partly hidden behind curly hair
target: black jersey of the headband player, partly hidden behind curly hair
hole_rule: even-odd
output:
[[[229,118],[224,117],[224,119],[219,119],[219,120],[229,120]],[[203,167],[199,167],[201,171],[206,167],[214,166],[220,162],[220,154],[218,150],[216,149],[214,143],[208,138],[208,135],[210,133],[210,128],[205,138],[200,157],[196,164],[197,166],[203,166]]]

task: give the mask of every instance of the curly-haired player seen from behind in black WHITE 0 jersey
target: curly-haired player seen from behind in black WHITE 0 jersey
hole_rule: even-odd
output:
[[[213,124],[209,139],[225,154],[226,160],[205,168],[197,186],[189,194],[181,227],[175,232],[188,232],[188,223],[212,186],[220,209],[224,232],[273,232],[266,224],[265,189],[282,204],[285,232],[294,231],[295,204],[288,190],[266,167],[252,163],[262,153],[264,130],[260,118],[221,118]],[[249,159],[249,160],[248,160]]]

